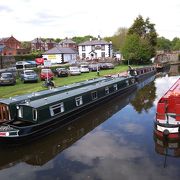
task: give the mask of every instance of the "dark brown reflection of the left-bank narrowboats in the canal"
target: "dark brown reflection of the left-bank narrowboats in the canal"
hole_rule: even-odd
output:
[[[147,79],[139,84],[138,88],[143,88],[153,80],[154,77]],[[55,133],[34,141],[33,144],[8,148],[1,147],[0,169],[9,168],[20,162],[36,166],[44,165],[128,105],[135,96],[136,90],[133,90],[129,94],[113,98],[84,116],[66,124]]]

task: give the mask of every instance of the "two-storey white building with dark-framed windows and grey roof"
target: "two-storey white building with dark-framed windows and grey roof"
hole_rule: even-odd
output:
[[[78,45],[80,59],[97,59],[112,57],[112,42],[106,42],[100,38]]]

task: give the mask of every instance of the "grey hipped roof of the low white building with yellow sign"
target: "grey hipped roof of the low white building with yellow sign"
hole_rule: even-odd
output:
[[[44,52],[43,54],[77,54],[78,52],[72,48],[55,46],[54,48]]]

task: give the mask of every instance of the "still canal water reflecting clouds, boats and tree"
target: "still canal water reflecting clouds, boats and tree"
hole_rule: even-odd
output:
[[[153,134],[158,99],[179,74],[171,66],[49,136],[0,147],[0,179],[179,180],[180,142],[166,148]]]

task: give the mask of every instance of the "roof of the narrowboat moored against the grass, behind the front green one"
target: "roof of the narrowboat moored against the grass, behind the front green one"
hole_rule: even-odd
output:
[[[4,104],[11,104],[11,103],[14,104],[14,103],[18,103],[18,102],[23,103],[23,101],[25,101],[27,99],[28,100],[36,100],[41,97],[58,94],[61,91],[68,91],[69,89],[73,89],[73,88],[76,88],[79,86],[86,86],[86,85],[92,84],[92,83],[94,84],[94,83],[97,83],[97,82],[105,80],[105,79],[106,79],[105,77],[90,79],[90,80],[86,80],[86,81],[82,81],[82,82],[78,82],[78,83],[69,84],[66,86],[60,86],[60,87],[53,88],[50,90],[43,90],[43,91],[33,92],[33,93],[24,94],[24,95],[20,95],[20,96],[14,96],[14,97],[10,97],[8,99],[0,99],[0,103],[4,103]]]

